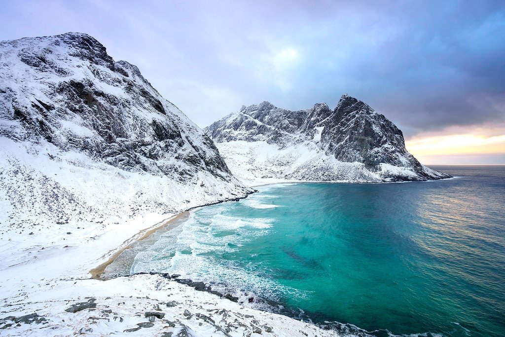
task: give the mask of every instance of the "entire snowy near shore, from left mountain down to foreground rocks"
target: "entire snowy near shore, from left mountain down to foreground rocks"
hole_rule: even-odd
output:
[[[91,36],[0,42],[0,335],[331,334],[157,275],[90,278],[174,214],[250,192]]]

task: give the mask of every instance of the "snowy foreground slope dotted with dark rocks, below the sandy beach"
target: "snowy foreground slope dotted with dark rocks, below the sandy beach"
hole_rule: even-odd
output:
[[[24,280],[12,291],[2,280],[0,335],[72,336],[334,336],[312,324],[245,308],[216,295],[167,280],[134,275],[108,281],[52,272],[56,254],[32,265],[48,271]],[[72,275],[72,276],[70,276]],[[10,287],[10,290],[6,290]],[[149,317],[152,318],[149,319]]]

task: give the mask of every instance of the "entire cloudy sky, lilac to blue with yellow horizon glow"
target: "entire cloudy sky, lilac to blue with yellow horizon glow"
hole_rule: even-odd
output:
[[[504,1],[0,0],[0,40],[88,33],[205,127],[343,93],[424,164],[505,164]]]

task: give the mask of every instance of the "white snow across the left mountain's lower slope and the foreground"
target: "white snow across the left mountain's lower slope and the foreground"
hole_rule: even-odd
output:
[[[0,330],[0,335],[122,335],[146,322],[144,313],[157,308],[165,317],[132,335],[184,329],[192,336],[242,336],[258,329],[267,336],[335,335],[306,322],[197,292],[159,275],[90,279],[89,270],[118,249],[166,223],[178,211],[213,201],[212,195],[199,185],[174,185],[159,176],[93,163],[79,153],[62,153],[49,143],[35,147],[0,137],[0,149],[0,311],[2,317],[37,313],[47,320],[45,324],[14,324]],[[38,184],[39,180],[44,184]],[[56,204],[62,208],[45,209],[49,206],[43,202],[47,197],[44,186],[52,186],[51,192],[65,199]],[[225,187],[220,186],[220,193]],[[19,191],[18,199],[12,196],[14,191]],[[169,198],[172,211],[156,208],[157,200],[168,203]],[[72,199],[78,203],[72,204]],[[135,199],[140,200],[131,204]],[[76,213],[71,212],[72,207]],[[57,214],[49,214],[51,210]],[[65,311],[89,297],[96,299],[94,310]],[[169,301],[177,305],[167,307]],[[11,322],[4,320],[2,326]]]

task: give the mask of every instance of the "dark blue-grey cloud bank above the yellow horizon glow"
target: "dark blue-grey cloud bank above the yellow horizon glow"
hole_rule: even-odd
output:
[[[384,35],[378,33],[375,41],[350,42],[345,62],[326,68],[333,79],[323,80],[326,100],[339,89],[349,91],[410,134],[503,121],[505,16],[501,4],[441,2],[438,6],[398,6],[381,13],[383,19],[370,20],[368,29],[356,33],[382,31]],[[333,44],[322,54],[331,49],[341,51]],[[306,70],[304,77],[310,77]],[[317,69],[320,78],[326,76],[324,70]]]

